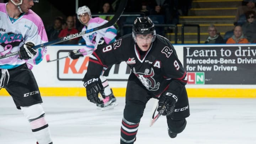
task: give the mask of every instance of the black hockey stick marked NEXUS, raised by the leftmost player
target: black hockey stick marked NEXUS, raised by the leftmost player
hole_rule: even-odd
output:
[[[59,39],[56,39],[56,40],[51,41],[51,42],[36,45],[36,46],[33,47],[33,49],[46,47],[46,46],[51,46],[53,44],[57,44],[57,43],[68,41],[68,40],[73,39],[73,38],[81,37],[84,34],[87,34],[87,33],[90,33],[90,32],[94,32],[94,31],[97,31],[97,30],[101,30],[103,28],[110,27],[110,26],[114,25],[119,20],[119,17],[123,14],[123,11],[126,7],[126,3],[127,3],[127,0],[121,0],[120,4],[119,4],[119,7],[116,11],[116,15],[114,15],[113,18],[110,21],[108,21],[107,23],[105,23],[104,25],[101,25],[99,27],[95,27],[95,28],[92,28],[90,30],[86,30],[86,31],[83,31],[83,32],[75,33],[75,34],[72,34],[72,35],[69,35],[69,36],[66,36],[66,37],[63,37],[63,38],[59,38]],[[20,54],[20,51],[12,52],[12,53],[5,54],[5,55],[1,55],[0,59],[8,58],[8,57],[11,57],[11,56],[17,55],[17,54]]]

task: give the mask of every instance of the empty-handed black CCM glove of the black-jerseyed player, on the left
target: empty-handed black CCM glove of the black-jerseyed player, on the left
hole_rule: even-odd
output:
[[[104,87],[102,86],[100,78],[93,78],[84,82],[86,88],[86,97],[90,102],[96,104],[102,104],[103,101],[100,100],[98,94],[100,92],[102,98],[106,98],[104,93]]]

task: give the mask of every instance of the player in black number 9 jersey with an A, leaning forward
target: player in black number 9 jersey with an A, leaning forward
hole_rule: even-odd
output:
[[[102,103],[104,97],[99,76],[102,71],[126,62],[132,70],[127,82],[126,105],[121,126],[121,144],[133,144],[136,140],[140,119],[150,98],[159,99],[158,111],[165,108],[168,134],[175,138],[186,127],[190,115],[185,85],[187,75],[170,41],[155,32],[149,17],[137,17],[132,34],[97,49],[90,57],[84,76],[87,99]]]

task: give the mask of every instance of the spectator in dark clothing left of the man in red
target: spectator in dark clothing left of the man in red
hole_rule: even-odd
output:
[[[63,23],[62,18],[56,17],[54,19],[53,26],[46,28],[46,33],[49,41],[54,41],[58,39],[58,35],[62,30],[62,23]]]

